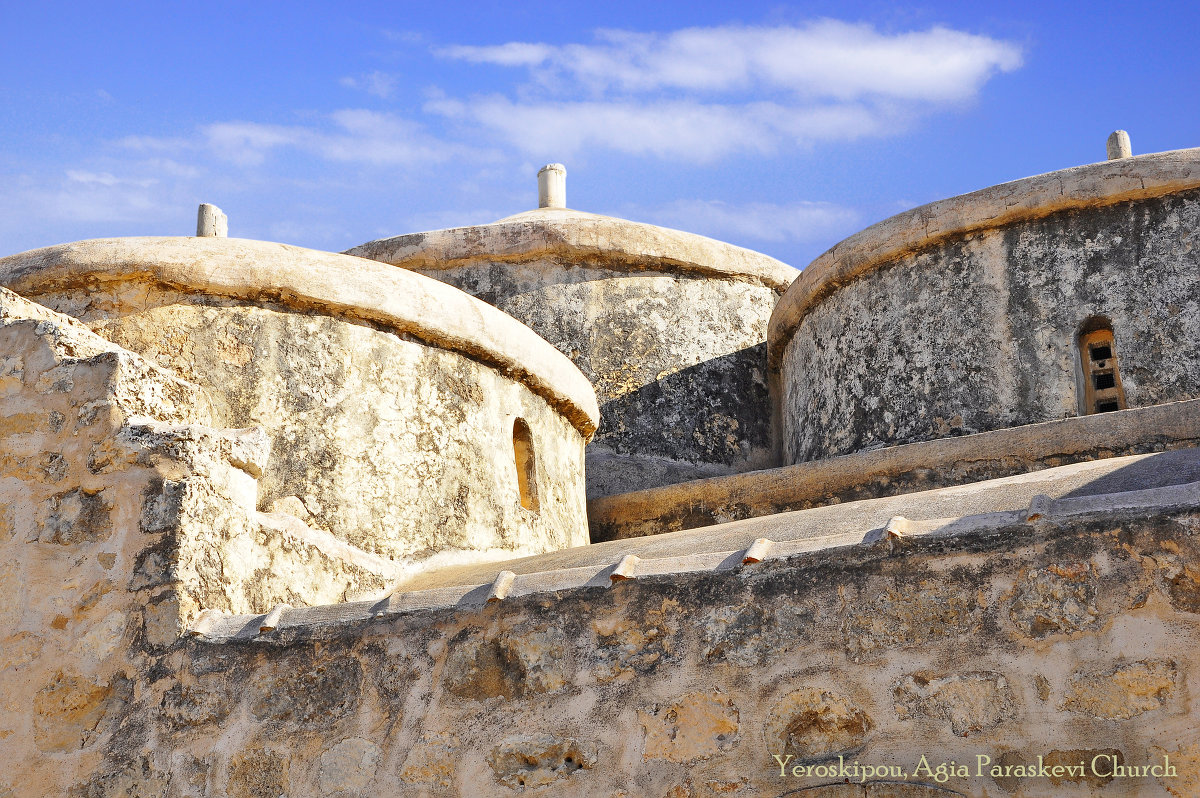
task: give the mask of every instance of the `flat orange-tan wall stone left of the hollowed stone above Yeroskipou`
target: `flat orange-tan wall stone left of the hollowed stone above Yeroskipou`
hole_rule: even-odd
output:
[[[738,710],[721,692],[691,692],[637,712],[646,732],[642,758],[692,762],[738,744]]]

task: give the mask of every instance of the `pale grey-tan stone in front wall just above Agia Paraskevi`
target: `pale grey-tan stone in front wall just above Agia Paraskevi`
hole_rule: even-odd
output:
[[[906,676],[896,684],[895,708],[900,720],[925,716],[949,721],[959,737],[998,726],[1018,709],[1008,679],[989,671],[941,678]]]

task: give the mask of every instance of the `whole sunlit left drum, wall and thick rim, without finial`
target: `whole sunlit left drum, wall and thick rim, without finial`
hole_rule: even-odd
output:
[[[461,292],[370,260],[215,238],[50,247],[0,259],[0,282],[203,386],[217,426],[265,430],[263,509],[397,560],[587,542],[590,385]]]

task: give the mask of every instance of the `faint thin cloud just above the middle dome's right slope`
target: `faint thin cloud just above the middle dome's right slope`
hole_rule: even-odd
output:
[[[632,206],[630,217],[722,240],[822,241],[845,235],[859,224],[857,211],[830,203],[797,202],[730,204],[679,199],[658,208]]]

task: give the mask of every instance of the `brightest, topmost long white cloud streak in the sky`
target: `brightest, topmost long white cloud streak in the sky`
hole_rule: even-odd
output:
[[[966,100],[996,72],[1021,65],[1012,42],[948,28],[882,34],[821,19],[800,26],[600,31],[594,44],[529,42],[437,50],[474,64],[535,70],[592,91],[787,91],[805,97]]]

